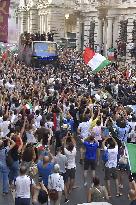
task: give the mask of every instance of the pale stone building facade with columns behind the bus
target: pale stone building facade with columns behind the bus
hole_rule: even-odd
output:
[[[136,0],[20,0],[20,33],[55,33],[56,42],[75,38],[76,48],[135,41]]]

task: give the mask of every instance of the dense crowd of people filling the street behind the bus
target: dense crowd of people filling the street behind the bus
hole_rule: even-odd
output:
[[[136,104],[136,70],[129,71],[113,63],[94,75],[82,53],[71,49],[59,51],[58,67],[42,70],[12,55],[1,60],[3,195],[15,190],[15,205],[68,203],[80,163],[87,202],[122,196],[125,172],[131,205],[136,204],[135,176],[124,147],[125,142],[136,143],[136,110],[128,106]],[[104,169],[104,186],[96,168]]]

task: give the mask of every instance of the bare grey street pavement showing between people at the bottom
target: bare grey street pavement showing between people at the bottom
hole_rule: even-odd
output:
[[[83,180],[83,166],[79,164],[79,152],[77,154],[77,173],[76,173],[76,185],[78,188],[74,189],[69,197],[70,201],[67,203],[67,205],[77,205],[81,203],[87,202],[87,192],[88,189],[84,187],[84,180]],[[88,186],[91,184],[91,175],[88,174]],[[104,171],[102,164],[100,164],[99,167],[97,167],[96,175],[98,175],[101,179],[101,184],[104,185]],[[1,191],[1,184],[0,184],[0,191]],[[129,205],[128,200],[128,178],[127,175],[124,175],[124,189],[123,189],[123,196],[121,197],[115,197],[115,183],[112,181],[111,183],[112,187],[112,198],[109,201],[112,205]],[[62,199],[61,205],[64,204],[64,199]],[[14,205],[13,197],[11,194],[8,196],[2,196],[0,193],[0,205]]]

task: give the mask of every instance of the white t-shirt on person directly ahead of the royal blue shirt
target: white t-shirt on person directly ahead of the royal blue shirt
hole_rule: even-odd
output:
[[[91,122],[90,121],[81,122],[79,124],[78,129],[80,129],[80,137],[81,138],[86,138],[86,137],[89,136],[90,126],[91,126]]]

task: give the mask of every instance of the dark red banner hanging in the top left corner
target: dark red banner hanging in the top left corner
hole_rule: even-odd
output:
[[[8,17],[10,0],[0,0],[0,41],[8,40]]]

